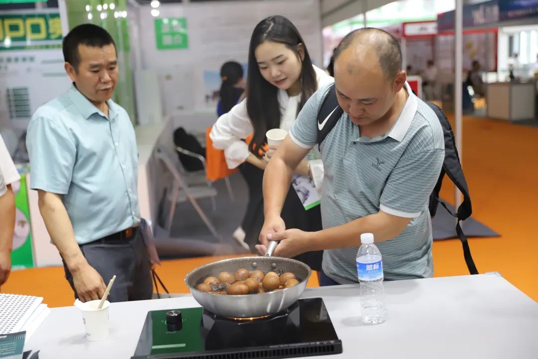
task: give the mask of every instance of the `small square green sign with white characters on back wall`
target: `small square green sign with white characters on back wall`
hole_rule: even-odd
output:
[[[171,17],[155,19],[157,50],[188,48],[187,19]]]

